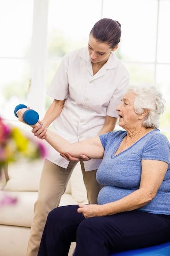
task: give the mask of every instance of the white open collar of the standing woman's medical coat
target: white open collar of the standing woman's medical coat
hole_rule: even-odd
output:
[[[84,61],[86,61],[86,68],[88,72],[90,72],[92,78],[91,81],[94,79],[99,78],[100,76],[103,76],[106,73],[106,70],[112,69],[114,67],[117,67],[119,59],[117,58],[115,52],[111,52],[110,56],[108,58],[108,61],[101,67],[101,69],[93,76],[93,70],[92,65],[90,61],[90,57],[88,54],[88,48],[82,48],[82,50],[79,53],[80,58],[82,58]]]

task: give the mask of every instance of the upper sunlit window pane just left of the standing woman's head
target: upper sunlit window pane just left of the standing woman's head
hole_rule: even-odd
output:
[[[63,56],[84,47],[89,33],[101,18],[102,0],[49,0],[49,57]]]

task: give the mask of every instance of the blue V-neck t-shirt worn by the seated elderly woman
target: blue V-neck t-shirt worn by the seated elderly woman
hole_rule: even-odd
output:
[[[159,130],[148,132],[135,144],[115,155],[126,131],[108,132],[99,136],[104,147],[104,157],[96,178],[104,185],[98,195],[98,204],[117,201],[139,189],[141,160],[160,160],[169,164],[155,198],[138,211],[170,214],[170,143]]]

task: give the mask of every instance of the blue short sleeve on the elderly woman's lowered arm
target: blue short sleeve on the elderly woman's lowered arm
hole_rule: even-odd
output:
[[[159,160],[170,163],[170,143],[160,134],[153,136],[144,147],[141,159]]]

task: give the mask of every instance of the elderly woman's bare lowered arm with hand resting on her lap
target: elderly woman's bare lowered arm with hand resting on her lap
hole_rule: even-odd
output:
[[[94,216],[106,216],[123,211],[132,211],[143,207],[150,202],[156,195],[163,178],[166,174],[168,164],[158,160],[143,159],[142,162],[141,183],[139,189],[129,195],[103,205],[79,204],[79,213],[83,213],[85,218]]]

